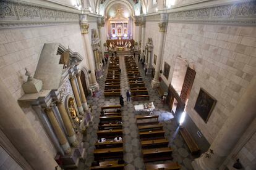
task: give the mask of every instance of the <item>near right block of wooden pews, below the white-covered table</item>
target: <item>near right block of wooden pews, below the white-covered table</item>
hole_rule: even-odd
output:
[[[148,164],[154,161],[173,160],[173,150],[164,137],[163,125],[158,122],[158,115],[136,116],[142,145],[143,161],[146,169],[180,169],[177,163]]]

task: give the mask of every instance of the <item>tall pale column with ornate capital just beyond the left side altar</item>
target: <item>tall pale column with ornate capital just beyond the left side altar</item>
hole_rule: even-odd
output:
[[[96,76],[95,76],[95,67],[93,64],[93,51],[92,51],[92,46],[90,43],[89,35],[88,35],[88,28],[89,24],[88,23],[81,23],[81,33],[83,35],[83,39],[85,41],[85,47],[86,47],[86,52],[87,52],[87,57],[88,57],[88,63],[90,67],[90,87],[94,88],[95,91],[98,91],[99,89],[99,84],[96,81]]]

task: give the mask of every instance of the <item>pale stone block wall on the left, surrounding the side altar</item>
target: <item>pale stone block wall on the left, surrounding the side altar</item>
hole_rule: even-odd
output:
[[[59,42],[65,47],[69,46],[72,51],[79,52],[85,58],[79,23],[0,30],[0,78],[9,87],[15,99],[24,94],[21,87],[27,79],[24,68],[27,67],[34,73],[43,44],[48,42]],[[87,65],[86,60],[80,65]],[[45,140],[55,155],[56,150],[35,111],[24,105],[22,109],[41,139]]]

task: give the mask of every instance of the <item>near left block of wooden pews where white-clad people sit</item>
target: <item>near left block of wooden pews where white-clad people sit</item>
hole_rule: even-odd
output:
[[[122,137],[121,105],[101,107],[97,136],[106,140],[96,142],[95,161],[90,169],[124,169],[123,142],[114,140],[115,137]]]

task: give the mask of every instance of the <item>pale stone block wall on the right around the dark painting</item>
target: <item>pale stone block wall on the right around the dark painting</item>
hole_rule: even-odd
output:
[[[168,23],[163,62],[171,76],[177,55],[195,63],[187,113],[210,144],[256,73],[255,37],[253,27]],[[217,100],[207,124],[194,110],[201,87]]]

